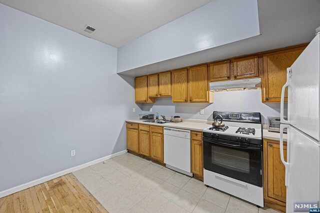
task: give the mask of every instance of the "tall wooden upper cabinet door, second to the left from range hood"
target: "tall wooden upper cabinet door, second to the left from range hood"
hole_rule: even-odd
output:
[[[172,102],[187,102],[187,69],[172,71]]]

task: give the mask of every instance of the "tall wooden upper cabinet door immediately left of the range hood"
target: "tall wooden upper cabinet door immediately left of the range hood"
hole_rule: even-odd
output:
[[[191,67],[189,69],[189,97],[190,102],[208,101],[207,65]]]

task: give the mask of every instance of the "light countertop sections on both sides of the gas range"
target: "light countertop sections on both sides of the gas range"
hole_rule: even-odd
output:
[[[177,128],[177,129],[186,129],[191,131],[201,131],[211,126],[212,121],[208,120],[197,120],[197,119],[182,119],[182,122],[179,123],[165,123],[165,124],[155,124],[155,123],[148,123],[143,122],[143,120],[140,119],[127,119],[125,122],[130,123],[139,123],[139,124],[145,124],[145,125],[153,125],[153,126],[162,126],[162,127],[171,127],[171,128]],[[263,129],[262,131],[262,138],[278,141],[280,140],[280,133],[277,132],[268,132],[266,129]],[[286,134],[283,134],[283,141],[286,141]]]

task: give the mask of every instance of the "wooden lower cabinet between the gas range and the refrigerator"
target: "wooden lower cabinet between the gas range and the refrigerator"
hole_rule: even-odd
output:
[[[283,154],[286,160],[286,143]],[[263,139],[263,179],[265,206],[285,212],[285,168],[280,158],[279,141]]]

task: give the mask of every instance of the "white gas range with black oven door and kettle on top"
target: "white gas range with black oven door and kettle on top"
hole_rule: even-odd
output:
[[[204,184],[263,207],[260,113],[214,111],[213,119],[217,115],[225,127],[203,130]]]

